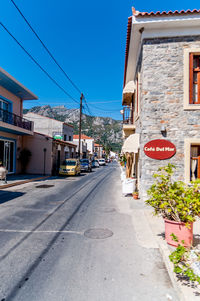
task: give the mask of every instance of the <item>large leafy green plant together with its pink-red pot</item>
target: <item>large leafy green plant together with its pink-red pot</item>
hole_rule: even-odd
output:
[[[168,244],[178,246],[184,240],[184,246],[190,247],[193,242],[193,222],[200,214],[200,185],[193,182],[191,186],[182,181],[173,181],[175,166],[168,164],[160,167],[153,177],[155,183],[148,190],[146,201],[165,221],[165,239]],[[174,233],[179,241],[174,241]]]

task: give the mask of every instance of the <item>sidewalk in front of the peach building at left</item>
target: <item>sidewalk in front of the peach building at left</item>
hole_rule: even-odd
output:
[[[8,187],[26,184],[33,181],[40,181],[49,178],[50,176],[42,176],[42,175],[8,175],[7,183],[4,181],[0,181],[0,190]]]

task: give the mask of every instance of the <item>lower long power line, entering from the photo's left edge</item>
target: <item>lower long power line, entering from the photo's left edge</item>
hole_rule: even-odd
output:
[[[68,97],[70,97],[74,102],[79,103],[76,99],[74,99],[63,87],[59,85],[59,83],[34,59],[34,57],[22,46],[22,44],[11,34],[11,32],[4,26],[2,22],[0,25],[4,28],[4,30],[15,40],[15,42],[24,50],[24,52],[31,58],[31,60],[48,76],[48,78],[60,89],[62,90]]]

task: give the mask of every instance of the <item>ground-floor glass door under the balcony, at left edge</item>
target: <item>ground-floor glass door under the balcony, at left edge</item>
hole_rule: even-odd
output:
[[[0,139],[0,161],[8,173],[14,172],[14,146],[14,141]]]

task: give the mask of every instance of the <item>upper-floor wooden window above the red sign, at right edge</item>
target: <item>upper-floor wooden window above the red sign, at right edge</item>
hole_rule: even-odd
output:
[[[200,54],[189,56],[189,103],[200,104]]]

